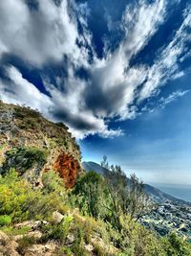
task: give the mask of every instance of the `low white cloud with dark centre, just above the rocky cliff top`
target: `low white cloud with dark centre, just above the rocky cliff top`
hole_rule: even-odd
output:
[[[65,120],[70,130],[78,139],[88,134],[98,133],[100,136],[114,137],[122,134],[122,130],[109,129],[103,119],[96,118],[93,113],[83,109],[81,105],[81,93],[84,84],[81,81],[73,81],[70,74],[68,90],[60,92],[52,84],[47,85],[51,97],[41,93],[31,82],[22,77],[22,74],[13,66],[7,68],[10,81],[0,80],[1,100],[10,104],[29,105],[38,109],[43,115],[54,122]]]

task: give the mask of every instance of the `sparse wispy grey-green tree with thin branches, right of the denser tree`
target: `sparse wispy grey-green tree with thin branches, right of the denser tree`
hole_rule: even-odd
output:
[[[101,166],[106,169],[104,176],[112,201],[117,229],[120,229],[121,213],[130,215],[131,219],[138,221],[142,215],[154,209],[154,204],[144,191],[143,182],[135,174],[127,178],[120,166],[109,165],[106,156]]]

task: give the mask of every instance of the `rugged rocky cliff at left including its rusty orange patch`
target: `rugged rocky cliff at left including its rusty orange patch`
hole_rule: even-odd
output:
[[[39,186],[43,172],[54,170],[67,188],[82,171],[81,153],[68,128],[29,107],[0,102],[0,174],[11,167]]]

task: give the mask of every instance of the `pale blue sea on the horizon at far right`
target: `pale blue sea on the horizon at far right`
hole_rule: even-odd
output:
[[[156,188],[173,196],[191,202],[191,185],[153,184]]]

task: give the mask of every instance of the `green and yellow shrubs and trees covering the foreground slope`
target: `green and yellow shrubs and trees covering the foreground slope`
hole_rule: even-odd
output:
[[[114,173],[122,182],[121,170],[114,168]],[[21,254],[32,244],[55,241],[59,244],[56,255],[92,255],[85,244],[92,244],[99,256],[190,255],[190,244],[176,234],[160,238],[138,223],[135,208],[142,203],[139,201],[143,195],[138,190],[141,181],[133,175],[135,184],[124,191],[121,182],[110,183],[113,175],[112,179],[94,172],[81,175],[74,190],[67,192],[63,180],[52,171],[42,176],[43,187],[33,190],[28,181],[11,169],[0,176],[1,230],[9,235],[24,234],[18,241]],[[128,201],[122,201],[126,196]],[[64,216],[62,221],[53,221],[54,211]],[[47,221],[40,227],[41,238],[29,237],[28,227],[15,229],[15,223],[27,220]]]

